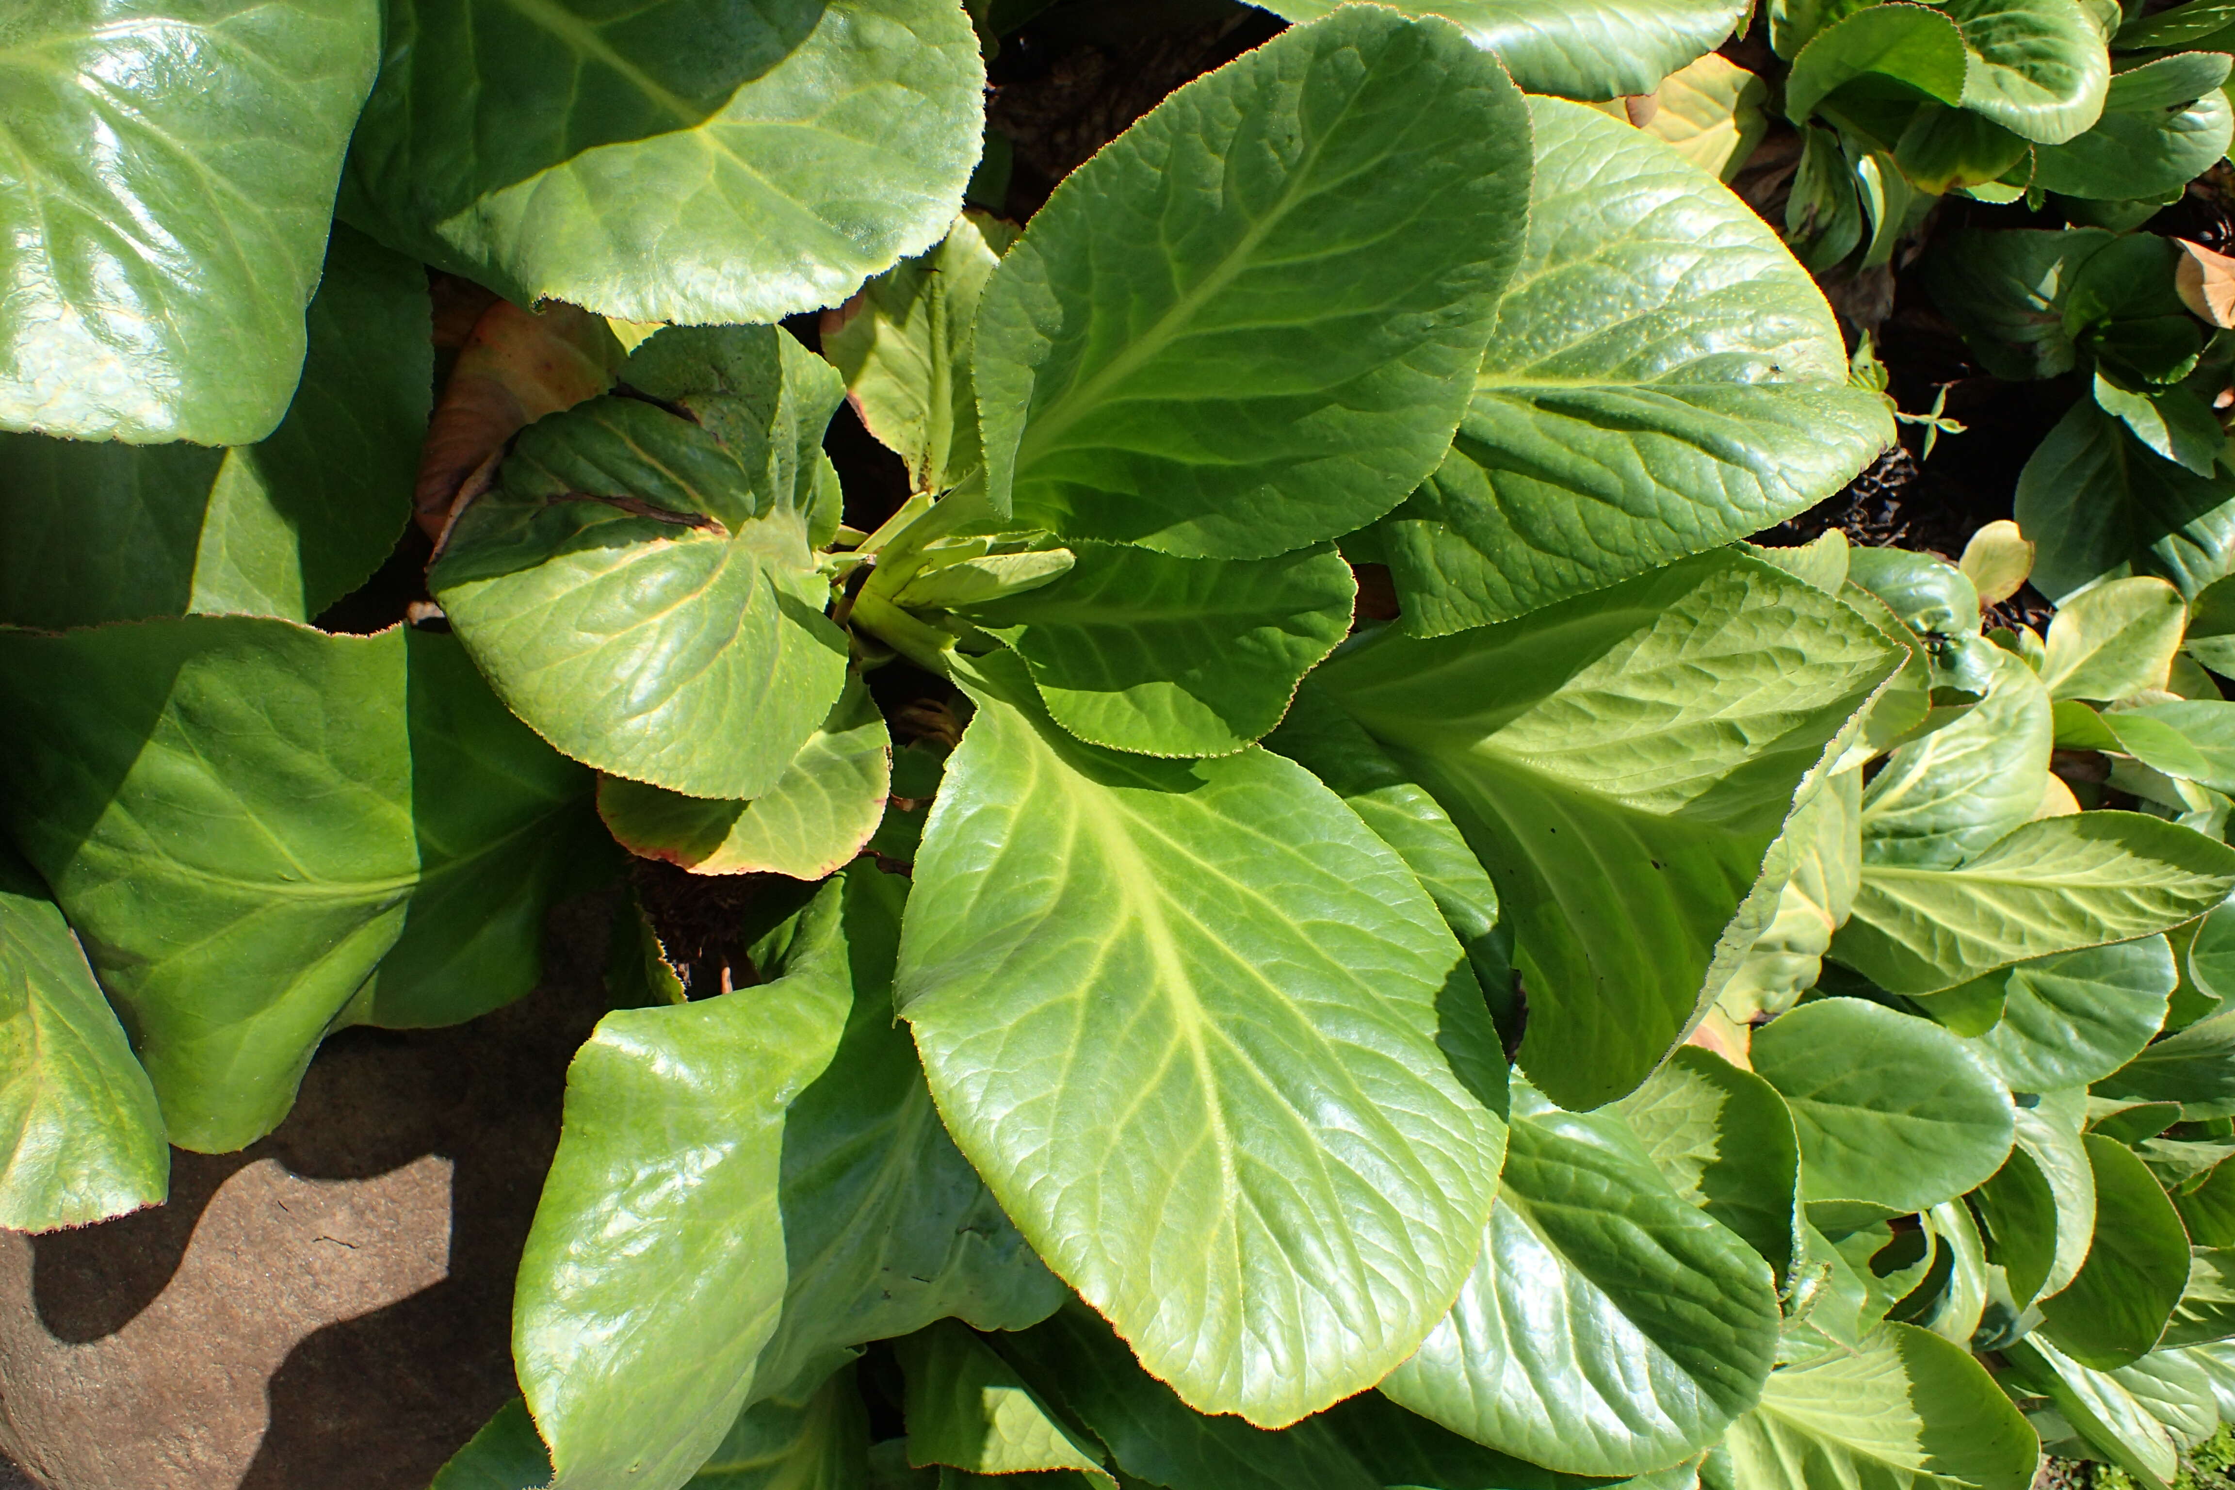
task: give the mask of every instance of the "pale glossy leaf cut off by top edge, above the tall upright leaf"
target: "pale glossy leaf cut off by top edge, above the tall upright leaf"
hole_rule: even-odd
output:
[[[1314,20],[1339,0],[1258,0],[1287,20]],[[1746,20],[1746,0],[1404,0],[1408,16],[1444,16],[1497,56],[1531,94],[1620,98],[1714,51]]]

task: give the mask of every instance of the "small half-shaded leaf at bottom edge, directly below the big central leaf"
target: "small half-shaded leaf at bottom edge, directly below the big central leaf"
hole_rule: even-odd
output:
[[[1082,1470],[1115,1483],[1100,1450],[1033,1396],[1001,1356],[952,1320],[896,1345],[907,1374],[907,1461],[972,1474]]]

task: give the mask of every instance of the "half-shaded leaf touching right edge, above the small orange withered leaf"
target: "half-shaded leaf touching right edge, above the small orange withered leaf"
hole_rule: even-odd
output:
[[[2184,51],[2128,67],[2110,80],[2103,118],[2063,145],[2034,152],[2034,190],[2063,197],[2163,197],[2204,174],[2235,134],[2228,58]]]

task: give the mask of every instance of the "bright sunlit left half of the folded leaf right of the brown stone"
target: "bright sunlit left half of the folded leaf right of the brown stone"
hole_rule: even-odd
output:
[[[574,1054],[512,1320],[554,1486],[673,1490],[751,1401],[784,1305],[784,1110],[876,999],[845,920],[829,885],[773,983],[615,1010]]]

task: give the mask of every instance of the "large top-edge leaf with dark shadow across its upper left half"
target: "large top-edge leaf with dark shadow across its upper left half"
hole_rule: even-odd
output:
[[[773,322],[939,241],[983,83],[941,0],[391,0],[342,214],[523,306]]]

